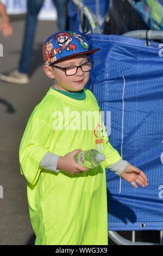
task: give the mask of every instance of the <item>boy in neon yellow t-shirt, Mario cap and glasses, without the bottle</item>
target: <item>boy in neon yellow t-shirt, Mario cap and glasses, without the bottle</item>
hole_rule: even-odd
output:
[[[106,167],[134,187],[135,181],[147,185],[146,175],[111,147],[96,98],[84,89],[92,68],[87,56],[98,50],[89,51],[83,35],[68,31],[43,45],[43,69],[54,85],[35,107],[20,145],[35,245],[108,245]],[[106,160],[84,168],[74,161],[81,149],[98,149]]]

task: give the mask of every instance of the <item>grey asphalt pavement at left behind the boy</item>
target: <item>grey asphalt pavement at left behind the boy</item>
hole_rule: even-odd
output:
[[[5,39],[0,72],[17,68],[23,40],[24,20],[14,21],[14,34]],[[0,245],[33,245],[26,180],[20,174],[18,148],[27,120],[53,81],[43,72],[42,43],[58,31],[56,22],[39,21],[27,85],[0,81]],[[3,198],[2,198],[3,197]]]

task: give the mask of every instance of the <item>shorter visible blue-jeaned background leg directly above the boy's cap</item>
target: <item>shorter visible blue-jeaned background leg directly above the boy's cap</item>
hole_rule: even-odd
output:
[[[66,0],[53,0],[58,14],[58,28],[60,31],[66,29]]]

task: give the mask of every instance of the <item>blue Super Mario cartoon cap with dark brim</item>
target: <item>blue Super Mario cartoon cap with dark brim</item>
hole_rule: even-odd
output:
[[[71,56],[89,55],[98,50],[99,48],[89,50],[89,42],[83,35],[73,31],[63,31],[49,36],[44,42],[43,60],[49,66]]]

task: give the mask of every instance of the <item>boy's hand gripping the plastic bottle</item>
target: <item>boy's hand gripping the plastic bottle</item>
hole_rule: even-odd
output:
[[[80,166],[80,164],[74,160],[74,156],[80,151],[82,150],[76,149],[68,153],[66,156],[60,156],[57,163],[57,169],[64,170],[64,172],[69,174],[78,174],[89,170],[88,168]]]

